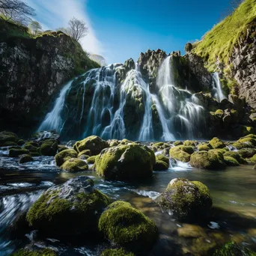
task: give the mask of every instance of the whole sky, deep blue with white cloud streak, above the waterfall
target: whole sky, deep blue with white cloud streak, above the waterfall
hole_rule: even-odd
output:
[[[85,19],[89,31],[82,40],[88,51],[107,63],[138,59],[139,52],[183,51],[186,42],[200,40],[223,17],[231,0],[26,0],[45,29],[66,26],[73,16]]]

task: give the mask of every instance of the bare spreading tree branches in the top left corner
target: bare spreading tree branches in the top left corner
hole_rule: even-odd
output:
[[[30,16],[34,16],[34,9],[19,0],[0,0],[0,14],[4,19],[27,24]]]

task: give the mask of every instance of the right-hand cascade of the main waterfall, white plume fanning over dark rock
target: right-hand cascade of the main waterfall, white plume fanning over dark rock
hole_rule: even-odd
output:
[[[168,124],[165,121],[161,121],[161,123],[165,123],[171,132],[175,130],[180,136],[185,135],[186,138],[194,138],[195,132],[198,132],[198,127],[201,126],[204,108],[198,105],[198,99],[195,95],[175,87],[171,58],[168,56],[162,62],[156,80],[159,98],[165,107],[165,114],[162,115],[165,115]],[[161,111],[158,109],[158,112]]]

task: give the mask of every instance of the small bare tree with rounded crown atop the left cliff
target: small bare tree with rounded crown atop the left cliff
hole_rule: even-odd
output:
[[[88,34],[88,27],[82,19],[73,17],[68,24],[70,25],[67,28],[68,34],[77,42]]]

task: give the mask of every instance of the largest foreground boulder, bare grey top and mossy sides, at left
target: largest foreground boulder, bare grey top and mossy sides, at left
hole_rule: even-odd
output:
[[[94,188],[93,180],[80,176],[43,192],[28,210],[27,220],[46,235],[91,235],[109,203],[110,199]]]

